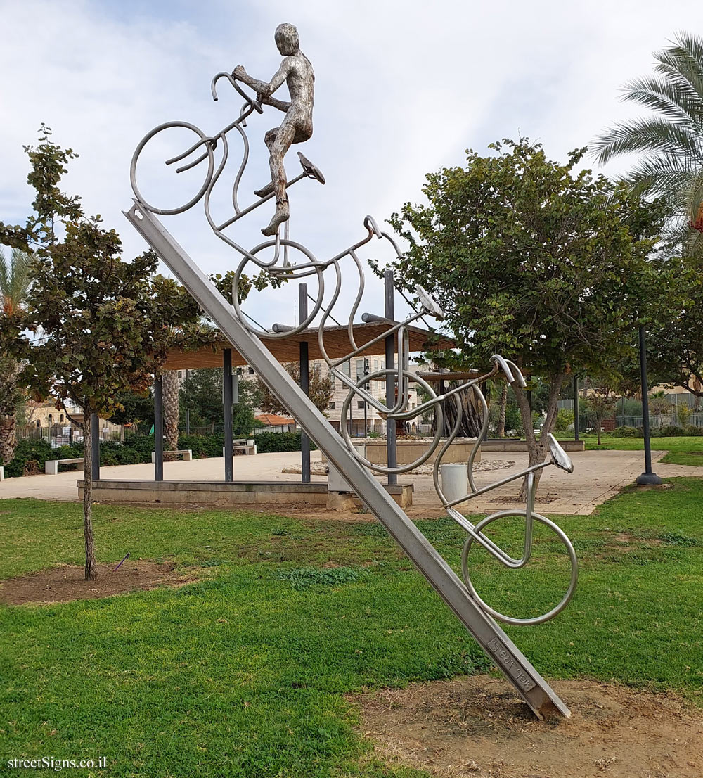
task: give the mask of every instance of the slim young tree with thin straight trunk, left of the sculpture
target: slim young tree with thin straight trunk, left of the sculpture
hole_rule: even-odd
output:
[[[49,128],[42,126],[39,145],[25,150],[34,213],[23,228],[0,223],[0,243],[34,256],[26,313],[14,317],[10,345],[13,356],[28,357],[20,379],[34,394],[57,398],[57,407],[70,400],[82,408],[86,579],[92,580],[90,419],[117,410],[121,393],[145,391],[170,346],[169,327],[197,321],[198,308],[175,282],[152,277],[156,254],[123,261],[117,233],[104,230],[100,216],[87,217],[79,197],[61,192],[61,177],[76,155],[52,142]],[[29,347],[23,329],[41,330],[39,342]]]

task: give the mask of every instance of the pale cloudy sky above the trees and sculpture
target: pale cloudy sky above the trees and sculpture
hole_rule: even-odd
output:
[[[223,81],[213,102],[212,76],[242,64],[268,81],[281,61],[275,27],[295,24],[316,74],[314,131],[309,141],[292,146],[286,170],[289,178],[299,173],[300,150],[327,183],[306,179],[291,188],[290,230],[292,239],[324,259],[364,237],[366,214],[383,226],[404,202],[421,202],[425,175],[462,165],[466,149],[488,153],[490,142],[527,136],[563,162],[615,121],[639,115],[620,100],[624,83],[651,73],[652,52],[677,32],[700,33],[703,5],[0,0],[0,21],[0,219],[23,223],[30,212],[23,145],[36,142],[44,122],[55,142],[79,153],[65,191],[82,195],[86,212],[100,214],[120,233],[126,258],[145,250],[122,215],[131,206],[129,165],[142,136],[173,120],[215,135],[236,118],[242,100]],[[285,86],[277,96],[287,99]],[[269,180],[263,137],[281,117],[268,107],[248,123],[250,163],[241,205]],[[184,143],[183,133],[163,148]],[[215,217],[222,214],[222,220],[231,214],[227,198],[240,153],[233,136],[214,196]],[[164,177],[163,170],[171,170],[156,167],[157,161],[145,149],[140,171],[149,194],[143,194],[157,206],[182,204],[179,195],[183,202],[191,197],[188,187],[173,173]],[[618,160],[603,172],[614,175],[623,166]],[[264,205],[228,234],[254,247],[272,212],[270,203]],[[239,264],[240,256],[209,229],[201,205],[164,216],[163,223],[205,272]],[[367,248],[372,253],[362,256],[391,258],[378,241]],[[349,289],[351,282],[347,299]],[[296,299],[292,288],[269,291],[251,296],[244,310],[267,327],[292,323]],[[381,313],[382,300],[380,282],[369,278],[361,310]]]

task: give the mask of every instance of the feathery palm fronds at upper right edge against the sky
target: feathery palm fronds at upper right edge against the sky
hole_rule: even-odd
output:
[[[628,82],[623,100],[653,115],[615,124],[593,142],[598,163],[640,153],[625,175],[640,192],[666,198],[666,238],[689,256],[703,256],[703,39],[679,33],[654,54],[656,75]]]

